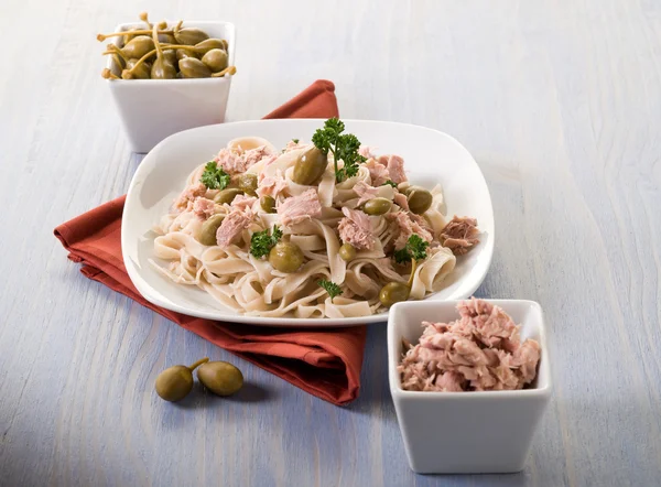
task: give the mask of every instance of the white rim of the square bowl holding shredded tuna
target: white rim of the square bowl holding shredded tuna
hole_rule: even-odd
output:
[[[397,306],[398,309],[400,307],[411,307],[411,306],[427,306],[430,309],[434,307],[434,306],[456,306],[458,302],[460,302],[462,300],[447,300],[447,301],[407,301],[403,303],[395,303],[392,309],[394,309],[394,306]],[[550,366],[550,358],[549,358],[549,348],[548,348],[548,344],[546,344],[546,323],[544,321],[544,312],[542,310],[542,306],[540,305],[540,303],[538,303],[537,301],[531,301],[531,300],[505,300],[505,299],[485,299],[485,301],[498,305],[502,309],[505,309],[507,311],[507,305],[511,304],[511,303],[519,303],[519,304],[525,304],[528,306],[534,307],[537,309],[537,311],[539,312],[540,316],[541,316],[541,322],[539,324],[539,331],[540,331],[540,337],[539,337],[539,343],[540,343],[540,348],[541,348],[541,353],[540,356],[543,357],[543,360],[541,360],[540,364],[540,368],[538,370],[538,376],[542,372],[543,369],[543,374],[544,377],[546,378],[546,383],[543,387],[535,387],[532,389],[520,389],[520,390],[513,390],[513,391],[472,391],[472,392],[432,392],[432,391],[408,391],[402,389],[401,387],[401,379],[400,379],[400,375],[397,371],[397,366],[399,365],[399,359],[400,357],[397,355],[394,355],[394,350],[391,347],[391,343],[392,346],[394,347],[394,342],[393,340],[401,340],[401,336],[400,337],[395,337],[393,334],[395,333],[394,331],[394,326],[390,324],[390,321],[388,323],[388,375],[389,375],[389,382],[390,382],[390,393],[393,396],[398,396],[400,398],[408,398],[408,399],[415,399],[415,400],[422,400],[422,401],[479,401],[479,400],[484,400],[484,399],[489,399],[489,398],[508,398],[508,399],[512,399],[512,398],[524,398],[524,397],[534,397],[534,396],[541,396],[541,397],[546,397],[551,394],[551,390],[552,390],[552,378],[551,378],[551,366]],[[391,309],[391,310],[392,310]],[[518,323],[519,324],[519,323]],[[422,328],[421,328],[422,332]]]

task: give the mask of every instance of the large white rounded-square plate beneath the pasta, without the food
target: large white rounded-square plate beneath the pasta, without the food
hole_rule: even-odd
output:
[[[473,294],[484,280],[494,253],[494,209],[487,183],[468,151],[452,137],[436,130],[405,123],[343,120],[377,153],[395,153],[404,159],[409,180],[432,188],[441,184],[449,218],[453,215],[477,218],[483,231],[480,242],[457,266],[441,291],[427,300],[458,300]],[[266,326],[353,326],[380,323],[388,314],[355,318],[296,318],[243,316],[218,303],[206,292],[177,285],[159,274],[149,263],[155,259],[150,230],[167,213],[185,186],[186,176],[209,161],[237,137],[258,136],[275,147],[293,138],[310,141],[324,120],[256,120],[199,127],[169,137],[142,161],[133,175],[123,210],[121,249],[127,271],[138,291],[151,303],[209,320],[251,323]]]

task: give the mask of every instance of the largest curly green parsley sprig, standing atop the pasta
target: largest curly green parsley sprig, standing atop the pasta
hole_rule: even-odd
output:
[[[358,153],[360,141],[353,133],[344,132],[345,125],[337,118],[329,118],[323,129],[317,129],[312,136],[312,143],[324,154],[330,152],[335,161],[335,181],[342,183],[358,174],[358,164],[367,161]],[[343,169],[337,167],[337,161],[343,160]]]

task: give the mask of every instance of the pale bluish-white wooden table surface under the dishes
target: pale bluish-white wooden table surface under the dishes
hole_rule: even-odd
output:
[[[67,261],[53,228],[123,194],[140,160],[95,41],[137,9],[237,24],[230,120],[327,78],[342,116],[472,151],[497,220],[478,295],[537,300],[550,328],[554,398],[522,473],[411,473],[383,325],[337,408]],[[659,485],[660,2],[3,0],[0,32],[0,485]],[[155,397],[160,370],[204,355],[251,391]]]

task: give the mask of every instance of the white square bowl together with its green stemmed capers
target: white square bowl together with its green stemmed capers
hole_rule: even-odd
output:
[[[234,24],[139,18],[97,36],[108,42],[101,76],[131,149],[149,152],[173,133],[223,123],[237,71]]]

